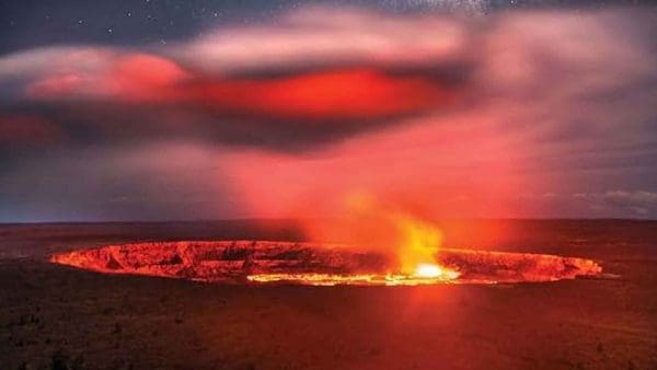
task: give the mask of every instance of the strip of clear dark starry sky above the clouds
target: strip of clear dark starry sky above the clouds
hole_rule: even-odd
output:
[[[138,46],[201,36],[232,25],[267,22],[290,10],[327,4],[378,9],[392,13],[508,9],[600,9],[618,5],[654,8],[654,1],[515,0],[118,0],[0,1],[0,53],[54,44]]]

